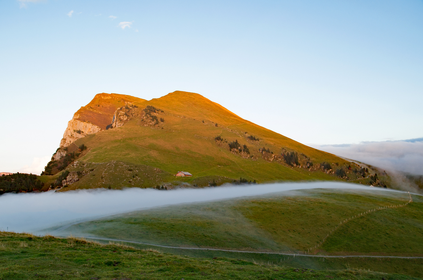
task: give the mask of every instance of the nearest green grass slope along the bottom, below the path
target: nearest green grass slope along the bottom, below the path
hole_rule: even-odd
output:
[[[299,261],[301,262],[301,261]],[[287,264],[287,263],[286,263]],[[295,269],[286,264],[254,264],[220,256],[193,258],[99,244],[0,232],[0,280],[21,279],[419,279],[346,268]],[[348,266],[348,265],[347,265]]]

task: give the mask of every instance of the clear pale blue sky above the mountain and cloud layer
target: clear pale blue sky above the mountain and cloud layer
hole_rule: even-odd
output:
[[[301,143],[423,137],[423,1],[0,1],[0,172],[95,94],[196,92]]]

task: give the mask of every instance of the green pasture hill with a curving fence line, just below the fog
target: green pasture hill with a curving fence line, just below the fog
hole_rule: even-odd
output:
[[[115,215],[79,223],[57,234],[175,247],[304,253],[307,248],[314,249],[319,244],[309,253],[423,256],[423,217],[419,215],[423,210],[423,199],[419,196],[413,196],[414,202],[407,206],[374,211],[352,219],[339,226],[320,245],[323,238],[347,217],[369,209],[404,204],[408,200],[408,194],[377,190],[290,191],[266,197],[176,205]],[[207,251],[160,250],[190,256],[207,254]],[[231,256],[232,253],[222,254]],[[254,257],[258,260],[251,254],[241,255],[250,261]],[[276,261],[277,256],[264,255],[261,259]],[[348,265],[342,261],[329,259],[321,262],[306,257],[301,264],[313,269],[342,269]],[[422,259],[353,258],[348,262],[355,268],[423,276]]]

